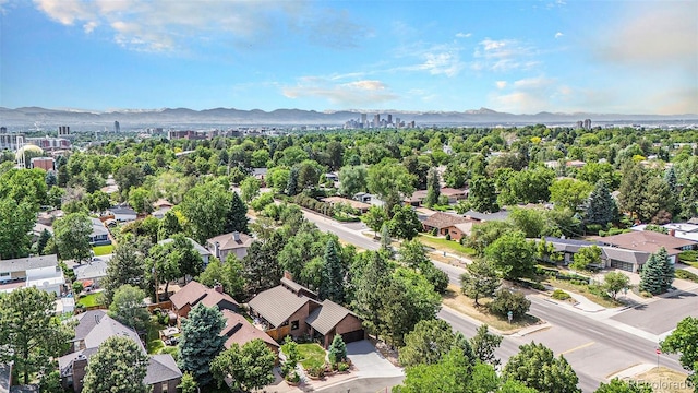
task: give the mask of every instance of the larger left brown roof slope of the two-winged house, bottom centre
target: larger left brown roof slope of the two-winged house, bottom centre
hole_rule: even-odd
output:
[[[309,301],[315,302],[306,296],[298,296],[279,285],[255,296],[248,305],[267,322],[278,327]]]

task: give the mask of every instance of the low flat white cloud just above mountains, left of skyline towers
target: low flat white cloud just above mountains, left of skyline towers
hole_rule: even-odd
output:
[[[293,99],[323,98],[340,107],[378,105],[399,98],[381,81],[364,80],[338,84],[324,76],[301,78],[297,85],[281,87],[281,94]]]

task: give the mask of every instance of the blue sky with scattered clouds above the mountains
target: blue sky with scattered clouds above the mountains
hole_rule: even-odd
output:
[[[0,106],[698,114],[698,1],[0,0]]]

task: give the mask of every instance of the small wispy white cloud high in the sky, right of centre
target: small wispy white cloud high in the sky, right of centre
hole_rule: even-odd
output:
[[[533,58],[535,50],[517,39],[485,38],[478,44],[473,52],[473,70],[506,72],[516,69],[530,69],[538,64]]]

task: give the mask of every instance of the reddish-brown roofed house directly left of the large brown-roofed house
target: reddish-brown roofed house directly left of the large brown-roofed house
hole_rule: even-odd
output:
[[[221,286],[208,288],[195,281],[189,282],[182,289],[170,296],[172,311],[178,318],[186,318],[189,311],[200,302],[206,307],[218,307],[219,310],[238,311],[240,305],[222,291]]]

